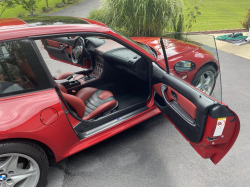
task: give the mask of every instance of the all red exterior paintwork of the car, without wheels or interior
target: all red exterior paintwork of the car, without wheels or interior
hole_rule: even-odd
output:
[[[4,19],[0,20],[0,41],[58,33],[104,33],[126,42],[152,61],[157,62],[162,68],[166,69],[165,60],[159,45],[159,38],[133,38],[134,40],[146,43],[155,48],[158,53],[158,57],[155,59],[144,49],[118,35],[104,24],[93,20],[84,20],[91,24],[28,27],[27,24],[19,19]],[[173,67],[175,63],[183,59],[195,61],[196,70],[207,62],[213,61],[217,63],[216,59],[210,53],[195,45],[174,41],[172,39],[166,39],[164,43],[169,56],[170,72],[177,77],[181,78],[184,74],[175,72]],[[196,71],[187,72],[186,74],[188,77],[186,81],[190,82],[195,73]],[[152,94],[147,102],[147,106],[149,107],[147,111],[110,129],[79,140],[72,128],[72,126],[76,126],[79,121],[73,118],[69,113],[65,115],[63,108],[66,109],[66,107],[63,105],[62,101],[60,101],[54,89],[1,98],[0,103],[0,140],[24,138],[39,141],[47,145],[53,151],[56,161],[60,161],[161,113],[154,105]],[[190,103],[186,105],[190,106]],[[183,107],[185,108],[185,106]],[[191,116],[193,116],[192,113],[190,114]],[[231,117],[228,117],[225,127],[227,129],[224,130],[225,138],[222,139],[219,137],[218,140],[214,141],[215,145],[211,145],[211,142],[207,141],[206,136],[212,137],[216,119],[208,117],[202,141],[197,144],[191,143],[203,158],[211,158],[216,164],[232,147],[238,136],[240,123],[238,117],[234,122],[230,122],[230,119]]]

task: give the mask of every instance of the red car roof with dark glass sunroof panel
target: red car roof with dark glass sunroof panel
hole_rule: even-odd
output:
[[[69,27],[69,25],[71,25]],[[44,16],[44,17],[27,17],[27,18],[5,18],[0,19],[0,40],[14,39],[20,37],[28,37],[44,34],[56,34],[56,33],[65,33],[65,30],[68,32],[74,32],[74,28],[78,27],[87,28],[90,30],[90,27],[94,30],[106,30],[108,27],[98,21],[86,19],[86,18],[76,18],[76,17],[67,17],[67,16]],[[51,33],[49,30],[57,30]],[[62,29],[63,28],[63,29]],[[106,29],[105,29],[106,28]],[[62,31],[62,30],[64,31]],[[22,33],[21,31],[33,33],[29,35],[28,33]],[[43,31],[41,31],[43,30]],[[47,30],[47,32],[45,31]],[[111,30],[111,29],[109,29]],[[17,32],[20,32],[18,35]],[[14,34],[14,36],[12,36]],[[4,37],[5,35],[5,37]]]

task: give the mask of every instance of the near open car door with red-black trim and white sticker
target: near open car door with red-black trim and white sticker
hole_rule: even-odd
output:
[[[218,73],[214,77],[213,93],[210,95],[194,87],[191,83],[168,73],[171,72],[171,69],[167,70],[167,63],[171,58],[166,58],[168,51],[171,50],[167,47],[174,46],[174,44],[169,45],[169,38],[173,38],[173,36],[168,35],[161,38],[166,70],[164,70],[165,67],[160,67],[153,62],[154,102],[203,158],[210,158],[214,164],[217,164],[237,139],[240,131],[239,118],[235,112],[221,102],[219,67]],[[208,40],[209,38],[210,40]],[[218,59],[213,36],[207,36],[202,41],[201,36],[198,35],[197,37],[179,35],[177,40],[206,49],[209,54],[213,53]],[[176,42],[178,42],[177,40]],[[210,44],[206,45],[208,41]]]

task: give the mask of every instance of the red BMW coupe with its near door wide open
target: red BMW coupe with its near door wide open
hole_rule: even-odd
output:
[[[213,38],[174,38],[130,39],[84,18],[0,19],[0,186],[44,186],[49,160],[160,113],[217,164],[240,121],[221,102]]]

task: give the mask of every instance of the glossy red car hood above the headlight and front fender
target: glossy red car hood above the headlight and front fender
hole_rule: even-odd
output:
[[[159,37],[131,37],[132,40],[141,42],[154,48],[158,55],[163,55]],[[168,58],[180,55],[187,51],[193,51],[199,48],[194,44],[189,44],[176,39],[163,39]]]

